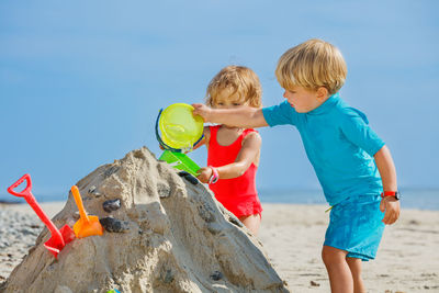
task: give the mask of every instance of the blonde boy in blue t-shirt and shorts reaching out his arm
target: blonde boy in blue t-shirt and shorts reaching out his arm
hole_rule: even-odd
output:
[[[384,224],[399,216],[392,156],[365,115],[344,102],[346,63],[331,44],[309,40],[286,50],[275,76],[286,99],[279,105],[214,110],[193,104],[205,122],[254,128],[291,124],[301,134],[329,205],[322,258],[331,292],[365,292],[361,260],[374,259]],[[385,212],[385,213],[384,213]]]

